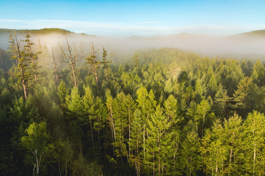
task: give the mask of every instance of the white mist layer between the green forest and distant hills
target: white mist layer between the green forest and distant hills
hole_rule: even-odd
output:
[[[25,39],[25,36],[18,35],[19,40]],[[62,34],[49,35],[31,35],[32,42],[35,46],[40,39],[41,44],[46,44],[49,49],[54,47],[65,47],[66,39]],[[177,47],[180,49],[195,52],[196,54],[209,56],[225,57],[262,57],[265,55],[265,37],[254,37],[248,35],[234,35],[228,37],[213,37],[196,34],[176,34],[165,37],[98,37],[89,35],[70,34],[67,35],[69,44],[75,48],[77,54],[84,54],[90,51],[91,43],[96,48],[102,49],[104,46],[108,53],[118,52],[135,52],[138,49]],[[0,35],[0,47],[8,47],[8,35]],[[260,59],[262,59],[260,58]]]

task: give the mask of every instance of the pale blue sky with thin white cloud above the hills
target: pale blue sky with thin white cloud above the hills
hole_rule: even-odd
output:
[[[0,28],[125,37],[265,29],[265,0],[0,0],[0,6]]]

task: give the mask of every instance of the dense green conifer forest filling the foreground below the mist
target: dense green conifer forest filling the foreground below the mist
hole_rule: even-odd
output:
[[[265,175],[259,58],[118,55],[68,33],[54,46],[11,33],[0,49],[0,175]]]

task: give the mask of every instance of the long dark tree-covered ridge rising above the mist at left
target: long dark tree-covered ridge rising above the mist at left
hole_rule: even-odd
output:
[[[60,28],[44,28],[44,29],[1,29],[0,34],[13,34],[14,30],[17,34],[51,34],[51,33],[59,33],[59,34],[75,34],[74,32],[66,29]]]

